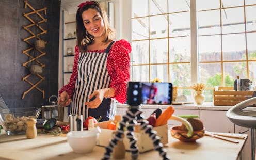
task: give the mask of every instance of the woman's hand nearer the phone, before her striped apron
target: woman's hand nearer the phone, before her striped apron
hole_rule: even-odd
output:
[[[86,102],[88,108],[95,109],[98,108],[104,99],[105,91],[103,89],[95,90],[91,95],[89,95],[90,102]],[[94,97],[94,98],[93,98]],[[93,100],[92,100],[93,99]],[[92,101],[91,101],[92,100]]]

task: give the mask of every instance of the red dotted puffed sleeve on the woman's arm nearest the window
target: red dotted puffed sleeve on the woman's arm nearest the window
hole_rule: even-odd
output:
[[[111,78],[109,87],[115,88],[114,98],[126,102],[127,82],[130,81],[130,53],[132,47],[126,40],[116,41],[109,51],[107,70]]]

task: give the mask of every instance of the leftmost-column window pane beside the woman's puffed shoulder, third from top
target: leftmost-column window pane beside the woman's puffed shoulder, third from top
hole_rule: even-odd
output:
[[[149,41],[132,42],[132,58],[133,64],[149,63]]]

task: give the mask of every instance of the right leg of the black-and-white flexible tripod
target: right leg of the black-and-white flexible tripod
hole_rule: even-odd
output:
[[[143,115],[141,114],[142,111],[139,108],[137,113],[135,113],[135,117],[137,117],[137,122],[140,123],[140,127],[142,130],[145,130],[145,133],[147,133],[149,135],[149,137],[152,139],[153,141],[153,145],[154,145],[154,150],[159,152],[159,155],[163,157],[163,159],[170,159],[167,155],[166,155],[166,150],[163,149],[163,144],[160,142],[161,138],[159,136],[157,136],[157,132],[152,130],[152,126],[148,125],[148,121],[143,119]]]

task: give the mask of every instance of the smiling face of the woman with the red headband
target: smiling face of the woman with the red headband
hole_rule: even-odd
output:
[[[82,19],[85,29],[94,38],[99,38],[104,35],[103,19],[97,10],[89,8],[82,13]]]

